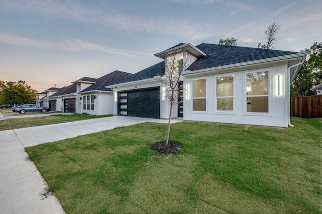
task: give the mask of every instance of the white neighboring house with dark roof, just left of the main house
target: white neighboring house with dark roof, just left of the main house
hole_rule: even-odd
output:
[[[113,114],[113,92],[106,84],[113,84],[131,75],[113,71],[99,78],[83,77],[62,87],[47,97],[50,111],[64,113],[87,113],[90,115]]]

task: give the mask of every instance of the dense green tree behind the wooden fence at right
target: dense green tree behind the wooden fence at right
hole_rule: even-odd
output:
[[[309,49],[305,49],[307,57],[291,84],[292,95],[313,95],[310,89],[322,82],[322,42],[314,42]]]

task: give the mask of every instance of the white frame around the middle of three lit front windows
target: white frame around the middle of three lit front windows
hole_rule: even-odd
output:
[[[218,96],[217,97],[217,78],[223,77],[223,76],[233,76],[233,96]],[[214,76],[214,105],[213,105],[213,114],[219,114],[219,115],[236,115],[236,74],[235,73],[225,73],[220,75]],[[218,111],[217,110],[217,98],[233,98],[233,111],[231,112],[225,112],[225,111]]]

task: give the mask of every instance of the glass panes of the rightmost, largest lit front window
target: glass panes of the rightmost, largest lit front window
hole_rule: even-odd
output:
[[[269,113],[269,72],[246,73],[248,113]]]

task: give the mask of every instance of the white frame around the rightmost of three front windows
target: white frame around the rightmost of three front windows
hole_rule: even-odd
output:
[[[268,71],[268,95],[247,95],[247,74],[248,73],[256,73],[256,72],[265,72]],[[244,71],[243,78],[243,106],[244,106],[244,115],[252,115],[252,116],[273,116],[272,114],[272,106],[273,106],[273,85],[272,85],[272,68],[259,68],[254,70]],[[247,98],[248,97],[268,97],[268,113],[266,112],[247,112]]]

